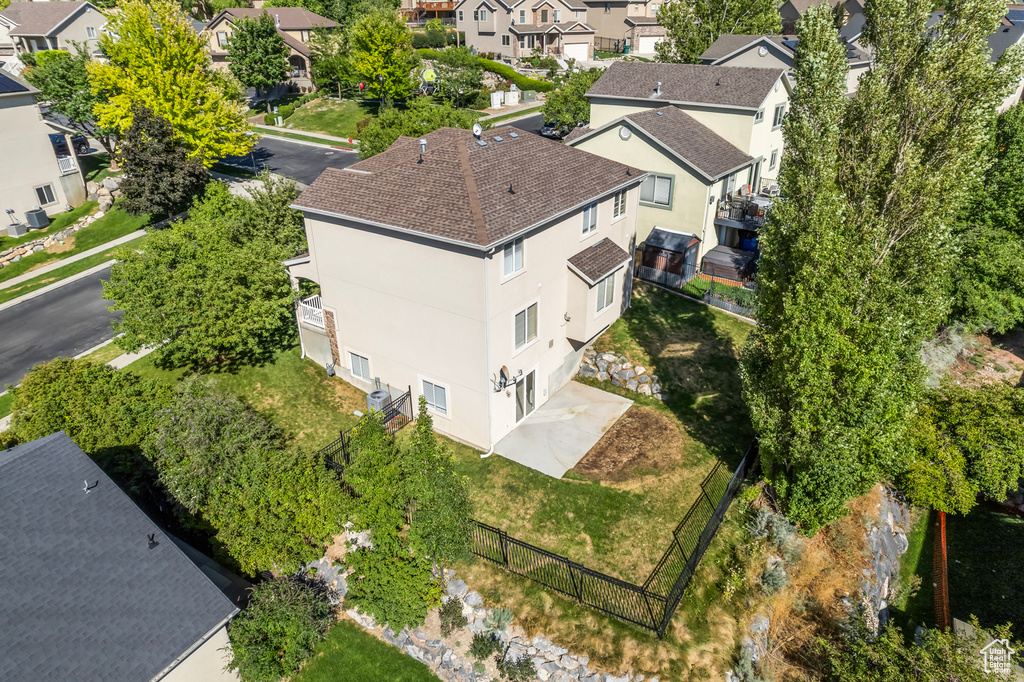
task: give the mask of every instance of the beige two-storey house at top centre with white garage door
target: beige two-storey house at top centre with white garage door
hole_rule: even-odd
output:
[[[466,44],[502,61],[552,55],[586,61],[594,58],[594,29],[580,0],[461,0],[456,23]]]

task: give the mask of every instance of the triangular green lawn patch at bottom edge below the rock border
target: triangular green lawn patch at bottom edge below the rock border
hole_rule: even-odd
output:
[[[316,645],[291,682],[437,682],[430,669],[349,621],[340,621]]]

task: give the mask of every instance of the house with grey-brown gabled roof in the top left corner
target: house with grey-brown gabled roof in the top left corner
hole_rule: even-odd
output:
[[[70,50],[73,42],[94,53],[105,26],[88,2],[12,2],[0,11],[0,54]]]

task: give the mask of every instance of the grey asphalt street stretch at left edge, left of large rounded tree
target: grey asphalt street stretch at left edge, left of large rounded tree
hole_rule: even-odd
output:
[[[0,391],[22,381],[35,365],[72,357],[114,336],[111,323],[121,313],[106,309],[100,280],[106,268],[32,300],[0,310]]]

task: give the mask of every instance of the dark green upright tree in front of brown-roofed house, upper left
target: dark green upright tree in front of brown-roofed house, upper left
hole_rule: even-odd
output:
[[[243,16],[234,24],[227,42],[227,68],[240,83],[265,93],[269,114],[270,90],[288,78],[289,66],[288,45],[268,12],[254,19]]]

